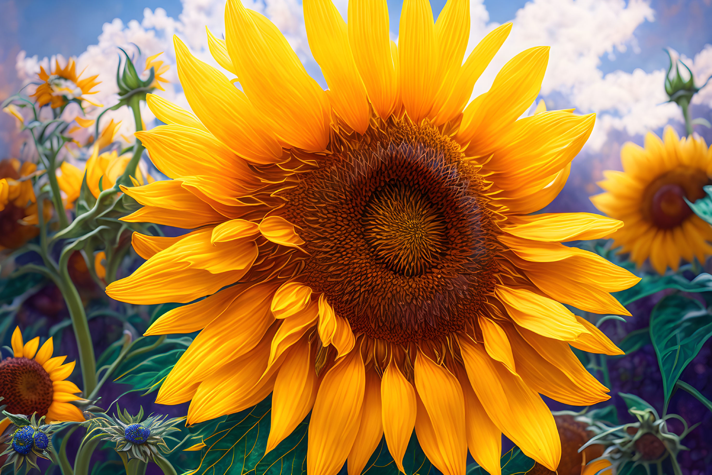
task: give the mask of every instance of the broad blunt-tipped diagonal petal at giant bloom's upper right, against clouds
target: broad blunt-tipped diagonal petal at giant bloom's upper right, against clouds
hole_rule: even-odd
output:
[[[456,140],[470,143],[477,155],[498,146],[499,137],[527,110],[539,93],[549,61],[549,47],[530,48],[511,59],[499,71],[483,102],[468,113]]]

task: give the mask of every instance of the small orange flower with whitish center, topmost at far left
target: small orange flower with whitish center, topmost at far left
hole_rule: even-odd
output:
[[[74,58],[69,58],[67,64],[62,68],[59,60],[55,60],[54,69],[48,74],[43,66],[40,66],[39,78],[43,81],[37,86],[31,98],[35,98],[37,105],[50,104],[53,109],[61,108],[70,100],[85,100],[91,105],[102,107],[101,104],[94,103],[86,96],[96,94],[98,90],[92,90],[100,81],[95,80],[98,75],[80,79],[82,73],[76,73],[76,63]]]

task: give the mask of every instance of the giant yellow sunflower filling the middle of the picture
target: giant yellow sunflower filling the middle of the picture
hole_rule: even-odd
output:
[[[311,411],[307,471],[359,474],[384,435],[396,464],[415,429],[444,474],[468,449],[499,474],[501,434],[555,469],[560,440],[538,393],[607,400],[569,345],[621,354],[562,303],[629,315],[612,296],[639,280],[560,244],[622,226],[596,214],[529,215],[560,192],[592,115],[535,100],[548,48],[515,56],[469,105],[508,35],[496,28],[463,63],[468,1],[434,23],[404,2],[399,44],[384,0],[303,2],[308,76],[278,28],[239,0],[213,56],[175,39],[195,115],[155,95],[167,125],[137,132],[169,181],[122,188],[125,217],[194,231],[133,235],[147,259],[111,283],[136,304],[192,302],[147,335],[201,330],[164,380],[161,404],[192,400],[188,422],[238,412],[272,392],[268,450]]]

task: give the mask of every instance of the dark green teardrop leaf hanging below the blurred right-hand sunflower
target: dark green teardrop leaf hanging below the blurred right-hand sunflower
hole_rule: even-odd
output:
[[[712,315],[692,298],[670,295],[650,314],[650,338],[663,375],[665,407],[675,382],[712,336]]]

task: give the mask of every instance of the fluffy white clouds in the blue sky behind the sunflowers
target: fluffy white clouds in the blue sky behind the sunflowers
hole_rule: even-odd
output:
[[[325,85],[318,65],[308,47],[302,9],[299,0],[246,0],[245,6],[271,19],[285,34],[305,68]],[[335,1],[342,15],[347,15],[347,0]],[[588,143],[590,150],[600,150],[613,133],[629,136],[644,134],[666,123],[680,121],[681,114],[674,104],[664,104],[662,88],[664,70],[646,73],[600,70],[601,58],[632,48],[637,51],[636,28],[645,21],[654,21],[655,12],[644,0],[533,0],[520,9],[510,38],[495,56],[475,86],[474,95],[487,90],[496,73],[510,58],[533,46],[551,46],[548,71],[542,95],[557,108],[576,107],[582,113],[597,113],[597,124]],[[187,107],[174,66],[172,36],[177,34],[196,56],[219,67],[208,51],[205,27],[216,36],[224,33],[224,0],[183,0],[183,11],[178,19],[166,15],[162,9],[145,9],[144,18],[127,25],[115,19],[103,26],[98,44],[89,46],[78,58],[85,74],[98,74],[103,81],[101,92],[95,97],[105,105],[117,101],[115,71],[118,46],[136,56],[138,46],[145,56],[164,51],[163,59],[172,65],[167,74],[171,84],[161,93],[164,97]],[[483,0],[471,0],[471,38],[468,50],[497,24],[489,21]],[[134,46],[135,45],[135,46]],[[137,66],[143,66],[138,58]],[[694,58],[683,58],[691,65],[697,78],[712,75],[712,46],[708,45]],[[19,77],[30,80],[41,63],[48,58],[26,58],[20,53],[17,61]],[[712,85],[696,96],[695,103],[712,107]],[[98,110],[88,110],[96,115]],[[145,122],[153,116],[142,111]],[[130,112],[124,108],[105,115],[122,120],[121,133],[133,132]]]

